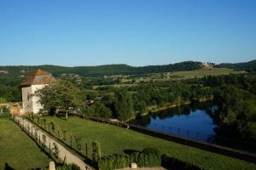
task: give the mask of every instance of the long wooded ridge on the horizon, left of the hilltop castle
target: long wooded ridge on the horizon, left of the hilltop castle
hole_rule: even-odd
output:
[[[170,65],[148,65],[148,66],[130,66],[130,65],[98,65],[98,66],[75,66],[66,67],[58,65],[36,65],[36,66],[0,66],[0,77],[23,77],[37,69],[51,72],[54,76],[60,76],[64,73],[78,74],[84,77],[95,77],[117,74],[147,74],[160,73],[168,71],[193,71],[202,67],[201,62],[184,61]],[[1,72],[2,71],[2,72]]]

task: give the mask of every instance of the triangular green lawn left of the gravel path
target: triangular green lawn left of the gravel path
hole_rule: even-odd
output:
[[[0,169],[47,167],[49,158],[8,118],[0,118]],[[6,166],[8,164],[8,166]]]

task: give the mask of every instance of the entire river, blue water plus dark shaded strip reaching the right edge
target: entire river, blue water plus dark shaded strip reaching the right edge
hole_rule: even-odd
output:
[[[129,123],[160,131],[161,133],[170,133],[187,139],[256,153],[256,144],[238,140],[236,137],[232,139],[226,138],[223,135],[221,128],[214,124],[212,120],[216,110],[217,106],[208,101],[149,113],[146,116],[138,116]]]

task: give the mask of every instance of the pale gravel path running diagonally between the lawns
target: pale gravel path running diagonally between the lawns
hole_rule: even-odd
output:
[[[27,121],[26,119],[20,117],[20,116],[16,116],[15,117],[15,120],[20,120],[21,124],[24,126],[24,127],[33,127],[32,128],[32,133],[34,135],[34,132],[35,132],[35,127],[37,127],[36,125],[34,125],[32,122],[29,122]],[[30,128],[30,131],[31,131],[31,128]],[[30,132],[31,134],[31,132]],[[40,139],[42,140],[43,139],[43,134],[45,135],[46,137],[46,142],[45,142],[45,145],[46,147],[49,148],[49,145],[50,147],[52,148],[54,146],[53,143],[55,143],[58,148],[59,148],[59,158],[61,159],[61,161],[66,161],[66,163],[74,163],[76,165],[78,165],[81,170],[85,170],[85,169],[94,169],[93,167],[90,167],[89,165],[85,164],[84,161],[79,158],[79,156],[75,156],[72,152],[70,152],[69,150],[67,150],[62,144],[60,144],[58,141],[55,141],[55,139],[52,139],[49,137],[49,134],[48,133],[45,133],[43,130],[41,130],[39,127],[38,127],[38,137],[40,136]]]

